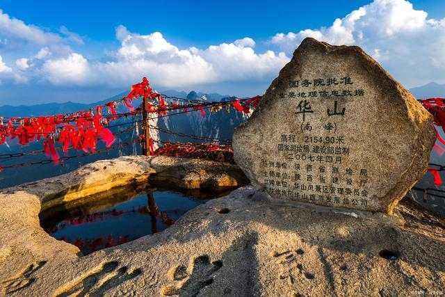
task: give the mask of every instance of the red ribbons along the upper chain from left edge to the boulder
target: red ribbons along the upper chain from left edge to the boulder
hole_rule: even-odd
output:
[[[237,99],[232,102],[218,102],[216,104],[178,104],[177,102],[165,102],[165,99],[159,93],[156,93],[150,86],[146,77],[143,81],[131,86],[131,92],[124,97],[121,102],[129,109],[129,114],[134,113],[135,109],[131,105],[133,99],[143,97],[149,99],[151,103],[147,104],[148,113],[157,113],[158,115],[167,115],[168,111],[180,110],[188,113],[188,109],[200,111],[202,117],[205,116],[204,108],[209,111],[220,111],[223,106],[229,112],[229,106],[232,104],[236,111],[250,112],[250,107],[257,107],[261,96],[249,99]],[[154,100],[156,99],[156,104]],[[0,118],[0,145],[5,143],[6,139],[18,138],[20,145],[28,145],[31,141],[43,142],[44,152],[55,163],[60,157],[54,143],[58,142],[63,147],[63,152],[67,154],[70,145],[75,150],[84,152],[95,152],[97,141],[104,141],[106,147],[110,147],[115,141],[115,136],[109,129],[104,127],[108,122],[127,116],[128,113],[118,114],[116,111],[118,101],[108,102],[104,105],[96,106],[95,111],[78,111],[68,115],[49,115],[38,118],[10,118],[6,125]],[[102,115],[102,109],[108,109],[108,116]],[[17,125],[19,124],[19,125]],[[150,139],[150,150],[153,152],[152,139]],[[1,168],[0,168],[1,171]]]

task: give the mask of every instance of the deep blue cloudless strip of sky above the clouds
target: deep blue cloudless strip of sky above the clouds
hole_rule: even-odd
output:
[[[328,26],[369,1],[2,1],[5,13],[49,29],[70,31],[99,42],[115,42],[115,27],[163,33],[180,47],[206,47],[250,36]],[[130,4],[127,4],[130,3]],[[152,12],[152,13],[151,13]],[[152,15],[150,19],[150,15]]]

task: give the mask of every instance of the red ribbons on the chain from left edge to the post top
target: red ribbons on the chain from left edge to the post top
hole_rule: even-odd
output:
[[[153,99],[159,96],[159,94],[153,92],[149,86],[149,81],[144,77],[141,83],[132,86],[129,95],[122,101],[129,108],[130,113],[133,113],[134,107],[130,103],[134,98],[150,97]],[[117,106],[118,102],[113,101],[96,106],[95,112],[91,110],[38,118],[10,118],[6,125],[3,124],[2,120],[0,122],[0,145],[5,143],[6,139],[18,138],[20,145],[28,145],[32,141],[47,138],[43,143],[44,152],[56,162],[59,159],[54,147],[56,142],[62,144],[65,154],[70,145],[75,150],[94,152],[98,139],[104,141],[106,147],[110,147],[115,141],[115,136],[104,125],[108,125],[111,120],[127,115],[118,115],[115,110]],[[102,109],[104,108],[108,108],[111,116],[105,117],[102,115]]]

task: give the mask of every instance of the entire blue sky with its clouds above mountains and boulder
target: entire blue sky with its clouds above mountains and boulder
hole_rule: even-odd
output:
[[[257,95],[307,36],[363,47],[408,88],[445,83],[442,0],[3,0],[0,9],[0,105],[94,102],[144,75],[159,90]]]

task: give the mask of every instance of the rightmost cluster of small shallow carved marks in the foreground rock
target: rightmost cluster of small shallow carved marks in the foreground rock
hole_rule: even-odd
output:
[[[305,253],[304,250],[299,248],[298,250],[286,250],[285,252],[272,252],[272,256],[278,258],[277,263],[281,264],[280,279],[289,279],[289,282],[293,284],[295,277],[302,274],[308,280],[313,280],[315,275],[306,271],[302,264],[298,263],[298,257],[301,257]]]

